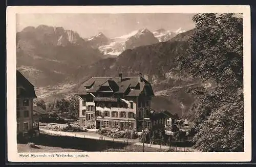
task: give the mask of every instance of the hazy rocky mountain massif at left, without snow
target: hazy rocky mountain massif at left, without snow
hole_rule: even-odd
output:
[[[39,25],[16,34],[17,69],[37,87],[66,82],[80,66],[101,59],[98,49],[77,33],[62,27]]]

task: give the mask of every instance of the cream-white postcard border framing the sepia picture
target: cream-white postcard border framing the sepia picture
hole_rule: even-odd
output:
[[[98,153],[87,158],[19,158],[16,145],[16,13],[243,13],[244,33],[244,143],[243,153]],[[251,160],[250,7],[226,6],[11,6],[7,8],[7,134],[8,160],[12,162],[202,162]],[[13,105],[14,104],[14,105]],[[14,126],[15,125],[15,126]],[[38,154],[38,153],[36,153]],[[55,153],[56,154],[56,153]],[[81,154],[81,153],[79,153]]]

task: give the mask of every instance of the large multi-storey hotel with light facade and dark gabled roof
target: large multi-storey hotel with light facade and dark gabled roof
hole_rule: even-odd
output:
[[[100,129],[128,127],[141,131],[143,113],[145,127],[151,125],[151,99],[154,96],[150,82],[140,74],[137,77],[91,77],[84,81],[76,94],[79,97],[79,124]]]

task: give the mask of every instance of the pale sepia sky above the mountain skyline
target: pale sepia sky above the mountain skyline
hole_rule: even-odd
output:
[[[77,32],[82,38],[103,33],[109,38],[129,34],[132,31],[147,28],[151,32],[158,29],[176,31],[190,30],[195,27],[194,14],[184,13],[128,13],[128,14],[17,14],[16,32],[27,26],[40,24],[62,26],[66,30]]]

